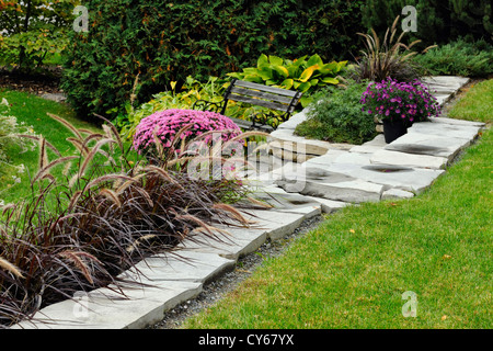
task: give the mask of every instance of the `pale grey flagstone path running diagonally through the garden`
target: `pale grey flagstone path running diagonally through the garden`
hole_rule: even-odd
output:
[[[443,104],[468,79],[433,77],[427,82]],[[256,222],[253,227],[223,226],[230,235],[222,241],[185,240],[180,257],[160,254],[138,263],[125,276],[144,285],[125,286],[127,298],[110,288],[98,288],[45,307],[34,320],[14,328],[121,329],[156,324],[167,310],[196,297],[204,284],[233,269],[240,257],[254,252],[267,239],[293,233],[310,217],[367,201],[415,196],[446,171],[484,126],[436,117],[415,123],[391,144],[380,134],[354,146],[295,136],[296,125],[305,118],[302,111],[271,134],[273,157],[284,151],[287,159],[267,172],[244,174],[255,196],[272,206],[244,214]]]

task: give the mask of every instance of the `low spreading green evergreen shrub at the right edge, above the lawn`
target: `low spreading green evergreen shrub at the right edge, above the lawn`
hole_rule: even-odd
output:
[[[435,76],[488,77],[493,73],[493,45],[486,41],[471,43],[459,38],[413,59]]]

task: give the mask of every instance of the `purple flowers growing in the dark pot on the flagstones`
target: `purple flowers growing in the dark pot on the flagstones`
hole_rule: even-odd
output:
[[[438,116],[440,106],[425,84],[419,80],[399,82],[387,78],[370,82],[363,93],[362,111],[374,114],[378,120],[401,120],[406,124]]]

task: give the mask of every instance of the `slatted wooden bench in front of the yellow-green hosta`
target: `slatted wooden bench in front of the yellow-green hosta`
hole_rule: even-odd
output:
[[[198,100],[194,103],[194,110],[214,111],[220,114],[226,113],[228,101],[244,102],[252,105],[267,107],[268,110],[280,111],[279,113],[262,112],[251,116],[251,121],[231,118],[243,129],[261,129],[272,132],[279,123],[289,118],[295,111],[302,93],[287,89],[274,88],[264,84],[253,83],[233,79],[226,89],[223,99],[220,102]],[[275,121],[276,123],[272,123]]]

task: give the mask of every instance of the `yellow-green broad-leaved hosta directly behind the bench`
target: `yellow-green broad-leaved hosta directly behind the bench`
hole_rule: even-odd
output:
[[[273,55],[262,54],[256,67],[243,68],[242,72],[232,72],[228,76],[274,86],[277,88],[298,90],[303,93],[300,102],[305,107],[311,101],[314,91],[328,86],[337,84],[337,75],[342,73],[347,61],[332,61],[324,64],[319,55],[302,56],[298,59],[284,59]]]

